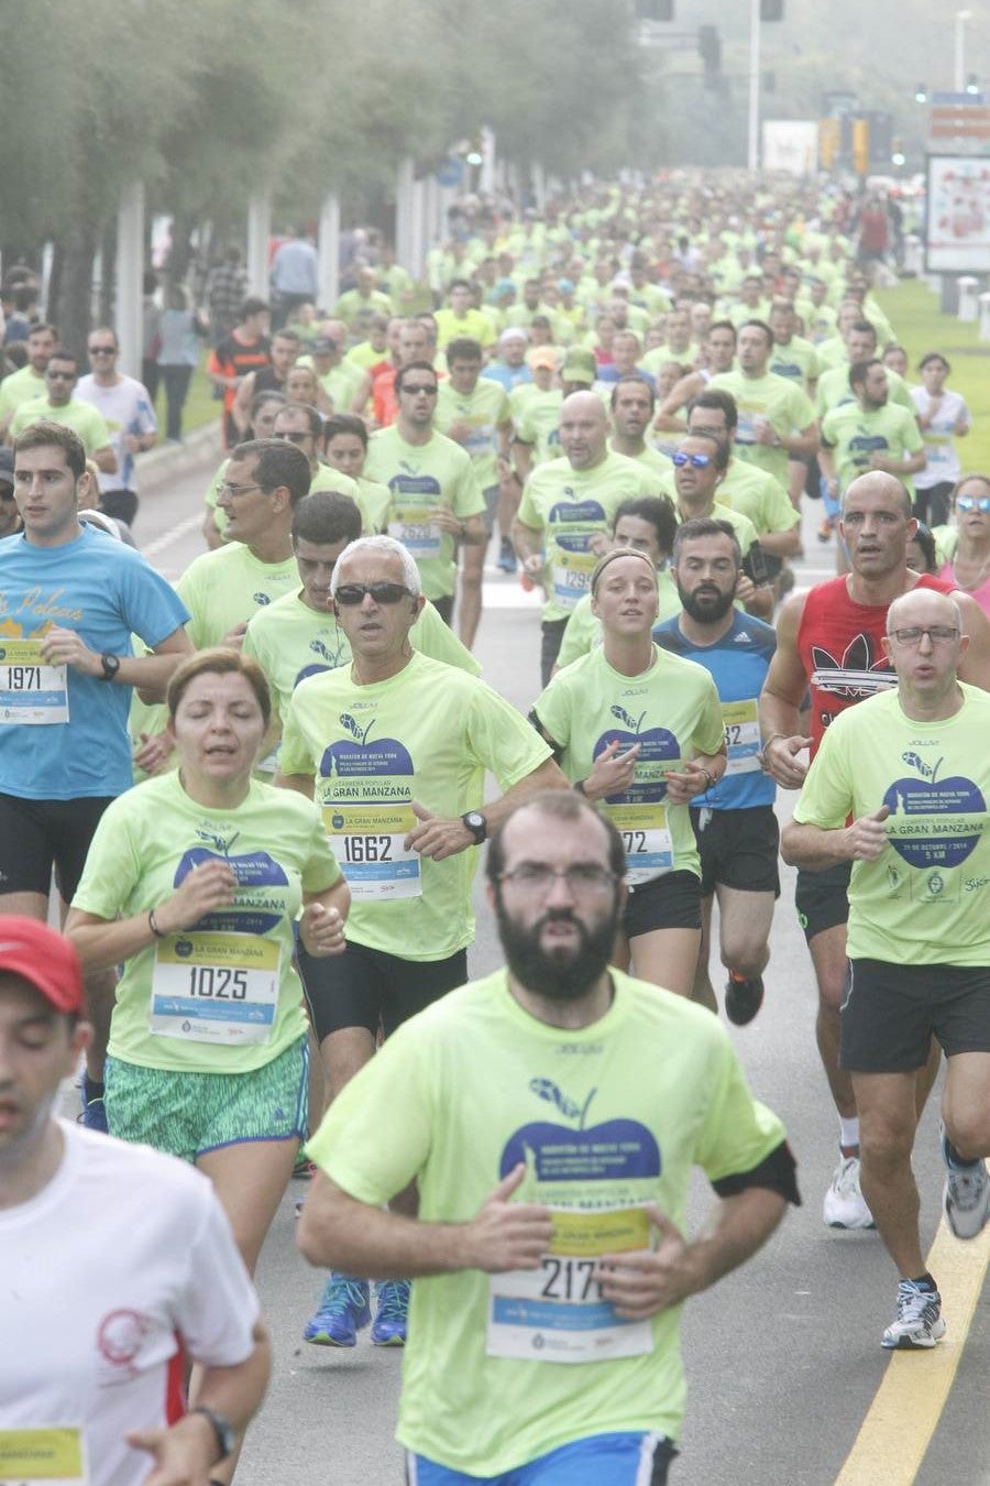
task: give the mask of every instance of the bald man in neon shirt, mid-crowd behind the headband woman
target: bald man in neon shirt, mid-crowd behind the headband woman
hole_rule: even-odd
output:
[[[564,629],[591,587],[617,507],[635,495],[658,495],[656,474],[609,449],[609,418],[597,392],[571,392],[561,403],[563,459],[537,465],[522,489],[512,539],[522,572],[542,583],[540,676],[549,682]]]

